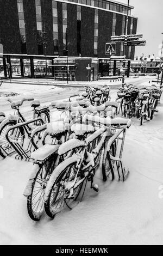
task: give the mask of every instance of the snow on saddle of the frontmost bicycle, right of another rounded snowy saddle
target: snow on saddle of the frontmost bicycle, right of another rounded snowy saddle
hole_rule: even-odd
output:
[[[92,125],[86,124],[73,124],[71,126],[71,131],[75,133],[76,136],[84,136],[87,133],[93,132],[95,129]]]

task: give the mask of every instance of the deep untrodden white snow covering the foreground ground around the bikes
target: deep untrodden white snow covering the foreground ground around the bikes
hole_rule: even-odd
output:
[[[87,186],[83,202],[54,220],[43,216],[34,223],[27,214],[23,191],[33,164],[12,157],[0,160],[0,244],[162,245],[163,103],[158,109],[150,123],[140,126],[134,118],[127,130],[123,162],[130,169],[128,179],[103,182],[99,169],[99,192]]]

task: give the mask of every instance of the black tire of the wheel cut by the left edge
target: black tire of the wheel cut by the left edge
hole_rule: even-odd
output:
[[[10,153],[7,153],[7,149],[6,149],[6,146],[5,144],[9,145],[9,142],[7,141],[7,138],[5,137],[6,133],[7,133],[7,130],[9,129],[10,126],[14,126],[16,125],[17,122],[16,121],[8,121],[7,123],[5,123],[2,127],[1,127],[1,130],[0,130],[0,155],[5,158],[7,157],[9,154],[11,153],[14,153],[14,149],[12,149],[12,146],[10,145]],[[23,147],[23,144],[24,144],[24,136],[25,136],[25,133],[24,133],[24,129],[22,127],[18,127],[17,128],[20,133],[21,133],[21,147]],[[4,141],[4,143],[2,144],[2,141]],[[12,149],[12,151],[11,151]]]

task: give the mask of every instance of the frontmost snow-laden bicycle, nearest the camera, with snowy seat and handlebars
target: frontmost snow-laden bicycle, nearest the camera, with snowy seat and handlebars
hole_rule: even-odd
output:
[[[92,122],[92,115],[86,115],[86,120]],[[103,159],[103,168],[105,169],[104,179],[107,176],[114,179],[114,165],[117,166],[119,178],[123,181],[126,179],[128,173],[122,166],[121,157],[116,155],[111,156],[111,145],[124,131],[124,127],[130,127],[130,119],[115,118],[95,118],[95,123],[104,127],[95,128],[92,125],[74,124],[71,126],[71,130],[75,133],[77,138],[70,139],[62,144],[58,149],[59,155],[68,154],[68,157],[61,162],[52,173],[45,191],[45,211],[46,214],[54,218],[56,214],[64,210],[67,206],[72,209],[73,204],[77,203],[80,192],[84,182],[91,181],[91,188],[98,191],[98,185],[93,183],[93,177],[96,169],[99,166],[101,159],[102,149],[105,148],[103,157],[108,157],[109,172],[106,170],[105,159]],[[111,133],[111,127],[119,128]],[[92,135],[87,137],[87,134],[92,132]],[[107,143],[107,147],[105,145]],[[95,147],[90,147],[95,145]],[[123,144],[122,148],[123,150]],[[120,154],[121,155],[121,154]],[[121,170],[121,173],[120,173]],[[82,192],[82,197],[85,189]]]

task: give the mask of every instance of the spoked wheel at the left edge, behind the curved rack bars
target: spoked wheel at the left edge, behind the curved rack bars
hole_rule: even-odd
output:
[[[12,148],[11,144],[7,141],[7,138],[5,137],[7,134],[8,129],[10,129],[11,126],[16,125],[16,121],[8,121],[3,126],[1,126],[0,130],[0,155],[5,158],[9,154],[14,153],[15,149]],[[22,127],[17,127],[14,131],[9,132],[9,137],[16,140],[18,144],[23,147],[24,143],[24,129]]]

